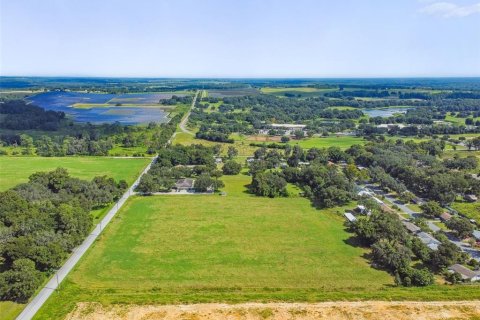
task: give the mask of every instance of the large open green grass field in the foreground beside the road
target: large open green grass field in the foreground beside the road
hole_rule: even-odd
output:
[[[36,319],[76,302],[476,299],[479,286],[398,288],[351,242],[341,213],[307,199],[259,198],[224,176],[226,196],[131,199]],[[351,243],[351,244],[350,244]]]

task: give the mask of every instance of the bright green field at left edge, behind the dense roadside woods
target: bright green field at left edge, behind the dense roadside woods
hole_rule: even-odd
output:
[[[68,170],[77,178],[91,180],[95,176],[107,175],[116,180],[125,179],[133,183],[148,158],[107,158],[107,157],[0,157],[0,191],[28,181],[35,172],[51,171],[58,167]]]

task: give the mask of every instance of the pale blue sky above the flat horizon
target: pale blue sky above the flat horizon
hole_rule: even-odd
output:
[[[0,75],[480,76],[480,0],[0,0]]]

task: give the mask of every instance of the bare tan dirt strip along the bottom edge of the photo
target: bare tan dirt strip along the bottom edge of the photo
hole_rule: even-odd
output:
[[[114,305],[78,303],[67,315],[78,319],[328,319],[328,320],[427,320],[427,319],[480,319],[480,301],[453,302],[322,302],[322,303],[243,303],[192,305]]]

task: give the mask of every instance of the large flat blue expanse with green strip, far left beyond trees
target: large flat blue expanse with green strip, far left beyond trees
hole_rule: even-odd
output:
[[[139,124],[148,122],[167,122],[168,113],[158,105],[160,99],[169,99],[173,94],[103,94],[51,91],[27,98],[32,104],[46,110],[63,111],[67,116],[78,122]],[[178,96],[181,96],[180,94]],[[106,104],[105,107],[74,108],[72,105]],[[117,103],[128,106],[115,106]],[[148,104],[148,105],[143,105]],[[110,106],[111,105],[111,106]]]

